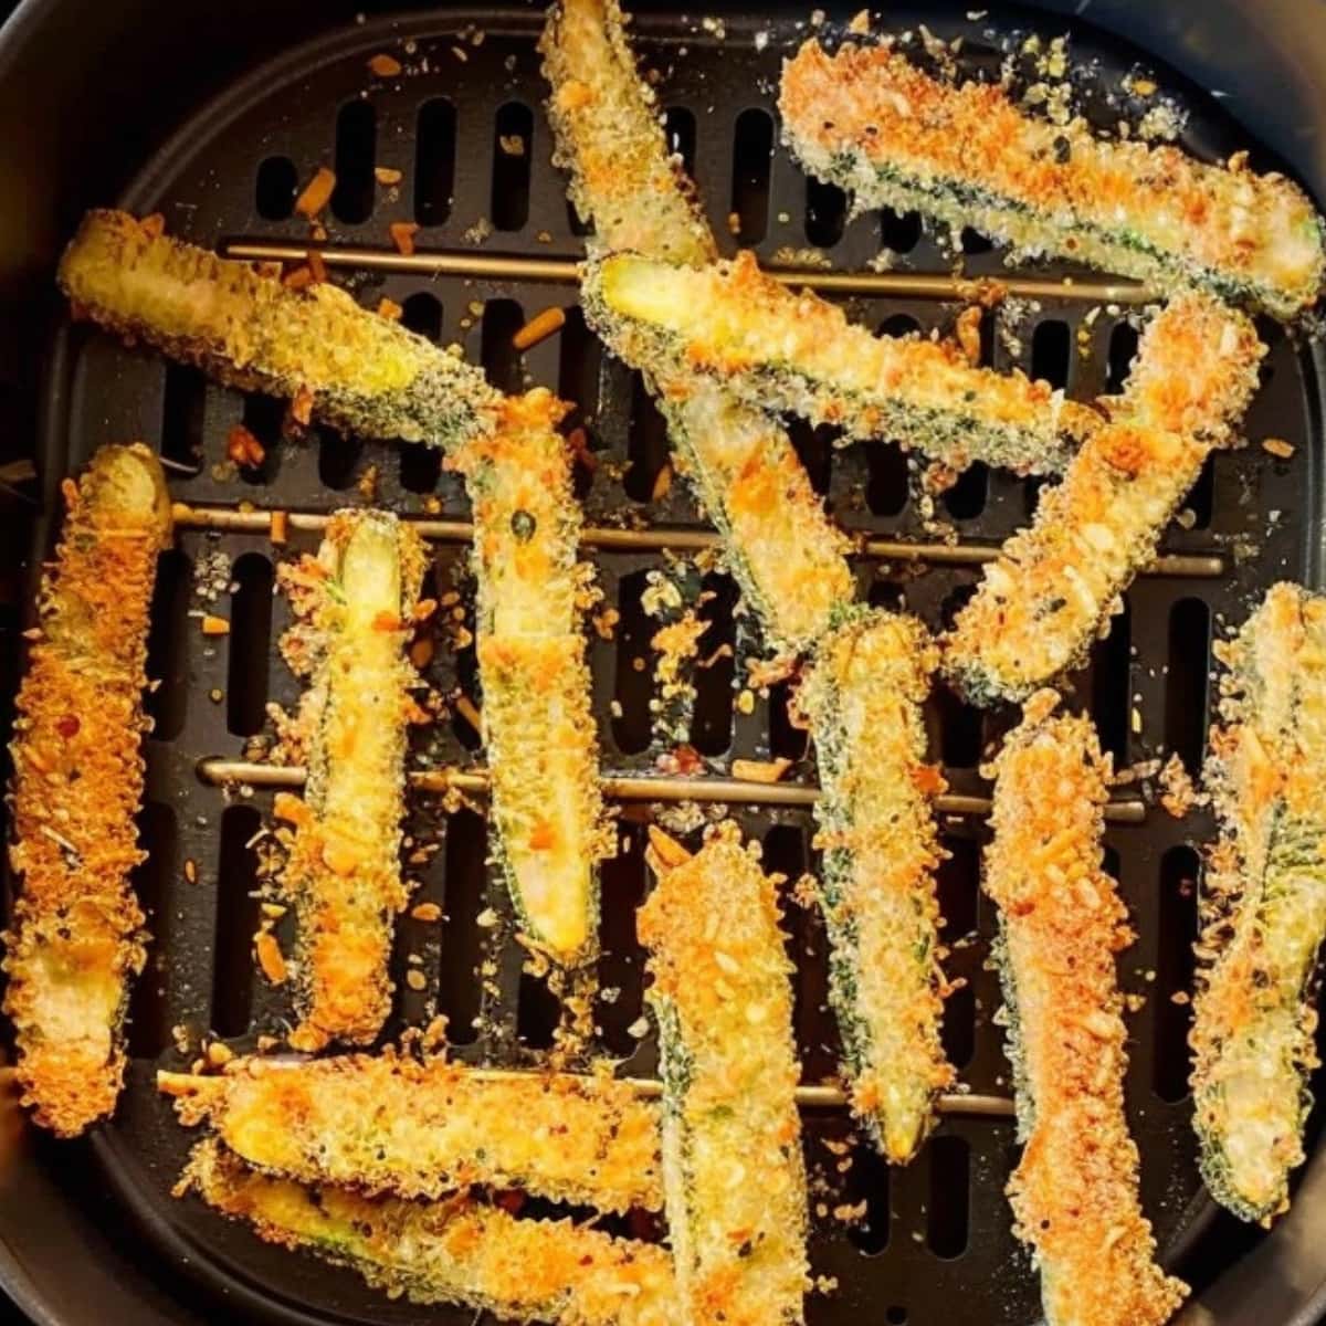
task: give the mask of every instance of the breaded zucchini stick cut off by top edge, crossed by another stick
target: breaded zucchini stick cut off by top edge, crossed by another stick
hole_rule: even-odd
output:
[[[691,182],[670,155],[654,90],[639,77],[617,0],[562,0],[540,44],[557,160],[591,253],[630,249],[700,267],[717,257]],[[728,566],[777,654],[827,630],[855,587],[846,540],[786,431],[690,371],[655,373],[678,468],[724,541]]]

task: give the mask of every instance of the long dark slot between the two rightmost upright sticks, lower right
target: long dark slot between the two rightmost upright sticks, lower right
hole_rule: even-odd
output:
[[[1188,1094],[1188,1028],[1192,1006],[1174,996],[1192,989],[1197,939],[1197,887],[1201,862],[1192,847],[1171,847],[1160,858],[1160,923],[1156,935],[1155,1041],[1151,1082],[1162,1101]]]

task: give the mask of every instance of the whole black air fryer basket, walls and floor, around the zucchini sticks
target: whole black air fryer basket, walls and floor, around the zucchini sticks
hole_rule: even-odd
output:
[[[241,760],[247,743],[264,728],[267,701],[290,704],[297,695],[274,650],[286,625],[286,606],[272,595],[274,558],[316,546],[320,514],[365,501],[361,481],[370,467],[375,500],[419,518],[463,521],[464,493],[453,476],[439,473],[439,457],[419,447],[375,447],[318,431],[302,442],[284,439],[278,403],[210,386],[191,370],[66,325],[48,286],[54,245],[78,210],[117,196],[135,211],[163,212],[174,233],[199,243],[263,239],[302,245],[306,224],[292,215],[294,194],[321,164],[332,166],[338,178],[329,216],[332,244],[390,248],[389,224],[418,220],[420,249],[574,257],[581,247],[577,221],[549,159],[540,109],[544,88],[533,41],[541,13],[524,7],[451,8],[370,19],[351,11],[330,13],[330,7],[290,5],[264,13],[240,4],[227,8],[225,32],[213,33],[207,29],[215,20],[206,15],[195,25],[194,16],[184,23],[167,12],[175,7],[150,4],[133,12],[126,7],[115,19],[88,16],[85,29],[81,12],[78,24],[72,21],[81,8],[29,0],[7,29],[7,44],[0,44],[5,76],[0,101],[30,88],[29,107],[49,102],[53,113],[68,117],[60,123],[70,125],[64,133],[49,125],[34,127],[34,143],[56,134],[46,159],[28,151],[30,159],[23,160],[7,143],[8,159],[0,163],[11,172],[9,183],[19,168],[27,171],[29,187],[40,183],[40,206],[23,217],[4,217],[15,239],[11,248],[23,257],[5,255],[4,335],[17,334],[30,349],[48,314],[53,326],[40,374],[16,382],[5,402],[15,407],[20,435],[38,438],[36,528],[24,537],[30,537],[38,556],[49,548],[60,477],[97,446],[130,438],[159,443],[174,463],[175,497],[212,514],[183,522],[175,549],[163,558],[154,606],[150,672],[162,686],[150,701],[156,727],[147,743],[142,830],[151,857],[138,887],[155,939],[133,1001],[129,1082],[115,1120],[80,1144],[56,1146],[36,1136],[12,1101],[7,1105],[0,1134],[0,1274],[30,1315],[62,1326],[216,1321],[227,1309],[255,1322],[468,1322],[469,1313],[389,1302],[350,1273],[268,1248],[195,1200],[171,1199],[168,1189],[191,1136],[175,1124],[152,1086],[158,1065],[179,1067],[192,1058],[176,1048],[182,1034],[196,1046],[200,1034],[216,1033],[240,1050],[251,1049],[260,1033],[278,1033],[285,1025],[284,997],[256,976],[249,955],[257,907],[249,896],[256,867],[251,843],[269,817],[271,777],[241,769],[237,780],[221,786],[217,766],[207,762]],[[1211,42],[1221,23],[1238,30],[1236,5],[1208,7],[1207,27],[1191,32],[1174,12],[1183,5],[1160,13],[1142,5],[1109,7],[1116,27],[1147,23],[1148,50],[1075,19],[1006,8],[971,19],[967,8],[890,4],[883,21],[895,30],[924,21],[941,37],[961,33],[964,58],[977,61],[997,60],[1000,38],[1016,30],[1044,36],[1069,30],[1074,58],[1097,62],[1090,80],[1097,93],[1116,88],[1139,64],[1155,69],[1154,56],[1166,50],[1208,86],[1223,91],[1241,86],[1249,105],[1257,106],[1246,117],[1249,126],[1273,134],[1278,146],[1298,156],[1285,123],[1269,113],[1264,118],[1261,110],[1272,95],[1280,115],[1286,102],[1296,105],[1294,20],[1288,9],[1284,24],[1269,23],[1269,32],[1256,41],[1241,34],[1238,45],[1219,48],[1229,66],[1223,68]],[[712,13],[721,16],[721,24],[647,12],[636,24],[636,40],[664,74],[660,95],[674,142],[688,158],[715,231],[728,236],[728,217],[735,213],[740,233],[732,244],[753,245],[765,261],[778,261],[780,251],[785,259],[788,251],[814,245],[835,268],[862,271],[883,243],[896,252],[899,269],[947,271],[951,256],[907,219],[849,220],[841,196],[808,184],[777,147],[770,111],[778,61],[786,42],[804,34],[809,11],[786,7],[776,19],[723,7]],[[849,11],[834,13],[830,21],[847,16]],[[1176,29],[1177,45],[1171,45],[1175,33],[1166,32],[1167,24]],[[191,34],[187,28],[198,30]],[[769,34],[766,45],[754,40],[761,32]],[[1272,53],[1272,36],[1282,56]],[[72,94],[74,70],[90,58],[97,41],[102,42],[98,77],[125,90],[121,119],[114,101],[101,105],[99,84],[88,93],[88,103]],[[145,58],[143,48],[151,58]],[[403,61],[406,73],[373,77],[367,61],[382,52]],[[58,64],[41,64],[56,58]],[[49,74],[40,88],[33,61]],[[236,78],[243,66],[252,72]],[[217,88],[216,95],[190,105],[190,72],[195,84]],[[1191,113],[1185,142],[1192,150],[1224,155],[1253,147],[1254,164],[1272,162],[1216,101],[1171,69],[1158,74],[1162,89]],[[168,117],[143,118],[138,78],[155,81],[155,102],[170,107]],[[1254,101],[1258,89],[1261,98]],[[1098,113],[1115,114],[1099,95],[1094,103]],[[1309,114],[1306,107],[1303,113]],[[1302,122],[1315,127],[1319,121]],[[107,142],[94,143],[94,130]],[[518,151],[509,150],[514,139]],[[1297,146],[1303,156],[1298,164],[1317,167],[1315,142],[1305,137]],[[399,170],[399,186],[375,183],[375,166]],[[11,188],[7,196],[8,212],[23,195]],[[491,233],[480,239],[476,225]],[[969,274],[1004,271],[1001,255],[977,236],[967,236],[964,248]],[[1045,265],[1037,274],[1061,271]],[[573,285],[529,276],[471,278],[353,267],[338,274],[365,302],[386,296],[404,308],[416,330],[464,345],[497,386],[518,390],[525,382],[544,383],[579,406],[598,455],[591,480],[586,476],[587,522],[619,524],[625,512],[633,526],[646,532],[630,546],[587,550],[606,602],[621,611],[615,639],[595,636],[591,648],[605,770],[654,772],[664,748],[651,739],[650,668],[638,671],[635,660],[650,660],[652,627],[640,606],[646,575],[668,569],[668,560],[667,538],[651,538],[650,532],[684,533],[703,525],[683,487],[659,480],[666,436],[638,379],[601,354],[575,314],[560,337],[530,353],[511,349],[511,335],[526,317],[548,305],[574,305]],[[947,329],[956,306],[869,294],[855,300],[855,310],[867,324],[891,330]],[[1005,310],[987,320],[989,362],[1004,369],[1021,365],[1070,394],[1094,395],[1116,386],[1126,370],[1134,343],[1127,313],[1061,296]],[[1168,561],[1159,573],[1136,581],[1127,611],[1097,647],[1091,667],[1075,679],[1074,703],[1094,715],[1120,768],[1163,748],[1179,751],[1195,769],[1205,736],[1213,635],[1241,619],[1256,593],[1274,579],[1321,579],[1321,355],[1273,325],[1262,332],[1272,349],[1248,419],[1253,444],[1216,457],[1189,501],[1191,528],[1176,526],[1167,534]],[[36,428],[25,422],[29,400],[40,402]],[[225,435],[239,422],[267,446],[268,459],[256,476],[216,468]],[[1272,435],[1294,447],[1292,460],[1274,459],[1256,444]],[[797,438],[835,516],[874,541],[857,561],[862,593],[879,603],[902,599],[934,627],[945,622],[977,577],[977,565],[964,560],[961,549],[997,542],[1026,518],[1034,501],[1026,481],[968,473],[939,504],[939,513],[957,530],[960,550],[907,561],[888,545],[934,545],[934,536],[908,495],[896,447],[879,442],[833,451],[822,434],[802,431]],[[304,517],[292,522],[286,549],[269,541],[263,513],[271,509]],[[20,524],[25,522],[13,522],[16,529]],[[436,591],[464,591],[464,544],[444,533],[434,548]],[[219,554],[228,568],[223,577],[228,587],[208,603],[196,593],[199,572]],[[809,788],[814,762],[804,735],[786,720],[785,695],[776,688],[751,713],[733,704],[733,676],[745,675],[753,640],[748,626],[733,618],[731,582],[715,573],[693,573],[690,579],[691,593],[715,591],[705,607],[713,625],[704,652],[724,643],[735,650],[735,658],[696,674],[691,744],[713,776],[723,774],[732,757],[786,754],[796,760],[788,782]],[[29,575],[29,598],[30,587]],[[228,636],[200,634],[190,614],[203,607],[231,618]],[[7,619],[11,644],[21,611],[11,609]],[[459,687],[479,699],[472,648],[453,652],[439,639],[428,679],[439,690]],[[979,715],[944,692],[936,696],[935,756],[955,793],[975,798],[988,793],[977,766],[983,749],[1008,721],[1005,713]],[[420,733],[415,754],[428,764],[465,768],[481,757],[475,747],[472,731],[457,719]],[[235,774],[235,766],[228,772]],[[1139,790],[1123,786],[1118,798],[1135,804]],[[806,797],[792,793],[790,804],[732,810],[747,833],[764,841],[773,869],[792,878],[814,869]],[[646,887],[640,834],[651,812],[667,813],[662,805],[623,806],[622,835],[631,850],[605,871],[601,977],[621,994],[599,1006],[598,1022],[602,1048],[622,1057],[623,1071],[636,1077],[654,1071],[652,1041],[631,1034],[642,984],[633,912]],[[1326,1220],[1319,1156],[1299,1185],[1293,1213],[1265,1238],[1235,1231],[1227,1217],[1216,1216],[1196,1177],[1184,1087],[1187,1010],[1171,996],[1191,976],[1195,845],[1209,835],[1209,821],[1203,812],[1174,819],[1158,806],[1138,818],[1111,823],[1107,846],[1139,932],[1123,955],[1120,979],[1128,992],[1144,996],[1130,1020],[1128,1094],[1148,1213],[1167,1261],[1205,1286],[1185,1319],[1241,1322],[1250,1319],[1256,1303],[1258,1319],[1274,1326],[1311,1321],[1311,1301],[1326,1277],[1326,1254],[1311,1237]],[[992,1021],[997,987],[985,961],[992,911],[977,890],[985,827],[979,814],[953,815],[943,827],[952,853],[941,879],[948,941],[963,940],[949,969],[968,983],[951,1000],[945,1044],[975,1094],[1006,1098],[1001,1030]],[[416,842],[440,845],[416,871],[418,898],[442,903],[447,922],[439,927],[402,920],[396,975],[407,955],[418,955],[426,988],[415,992],[398,980],[387,1034],[442,1012],[461,1058],[509,1066],[536,1062],[549,1044],[556,1009],[541,983],[522,975],[514,943],[493,939],[493,931],[477,924],[487,907],[507,912],[501,888],[484,865],[481,817],[469,810],[447,814],[436,797],[416,797],[410,831]],[[196,865],[196,882],[186,879],[186,862]],[[819,1082],[835,1062],[831,1018],[823,1010],[825,940],[815,918],[797,907],[789,908],[789,927],[805,1081]],[[489,992],[475,973],[485,957],[496,964]],[[1034,1274],[1012,1238],[1002,1196],[1014,1155],[1006,1115],[947,1114],[922,1156],[902,1171],[886,1170],[861,1142],[853,1142],[850,1164],[842,1164],[837,1142],[850,1131],[842,1109],[808,1109],[805,1131],[808,1159],[819,1180],[812,1199],[812,1260],[818,1274],[838,1281],[835,1293],[812,1301],[812,1322],[846,1322],[863,1313],[871,1321],[911,1326],[941,1321],[1022,1326],[1037,1319]],[[839,1208],[862,1203],[863,1216],[842,1219]],[[1236,1252],[1245,1256],[1220,1274]]]

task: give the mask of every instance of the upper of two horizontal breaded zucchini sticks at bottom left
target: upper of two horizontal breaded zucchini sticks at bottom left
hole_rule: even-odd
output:
[[[158,1073],[180,1119],[245,1164],[300,1183],[440,1197],[484,1183],[627,1211],[663,1204],[658,1109],[611,1077],[485,1077],[440,1057],[237,1059],[223,1077]]]

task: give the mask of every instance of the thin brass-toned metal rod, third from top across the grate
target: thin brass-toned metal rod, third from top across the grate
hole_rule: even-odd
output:
[[[251,788],[302,788],[308,770],[300,765],[252,764],[245,760],[200,760],[198,776],[217,786],[247,784]],[[488,792],[487,769],[424,769],[410,774],[410,785],[419,792]],[[606,776],[603,794],[614,801],[721,801],[745,806],[812,806],[819,789],[804,782],[757,782],[751,778],[650,778]],[[988,815],[988,797],[965,797],[945,793],[935,798],[935,808],[947,815]],[[1111,823],[1146,823],[1144,801],[1111,801],[1105,808]]]

